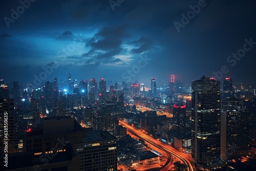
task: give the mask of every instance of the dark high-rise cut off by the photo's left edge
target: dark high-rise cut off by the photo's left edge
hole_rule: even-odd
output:
[[[8,129],[6,130],[6,126]],[[7,131],[7,133],[5,132]],[[4,140],[8,153],[15,152],[14,99],[0,98],[0,156],[4,156]],[[6,140],[7,139],[7,140]]]

